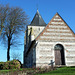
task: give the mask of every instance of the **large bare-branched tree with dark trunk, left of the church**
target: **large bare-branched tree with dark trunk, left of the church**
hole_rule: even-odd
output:
[[[15,44],[14,37],[19,37],[19,33],[25,30],[28,23],[28,16],[19,7],[9,7],[8,5],[0,7],[0,26],[3,41],[7,42],[7,61],[10,60],[10,48]],[[17,37],[17,38],[18,38]]]

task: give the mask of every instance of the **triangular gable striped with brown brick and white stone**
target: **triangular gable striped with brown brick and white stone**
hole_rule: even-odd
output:
[[[75,34],[62,17],[56,13],[35,40],[75,41]]]

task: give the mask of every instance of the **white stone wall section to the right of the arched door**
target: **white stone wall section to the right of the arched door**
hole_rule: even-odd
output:
[[[65,43],[66,65],[75,66],[75,42]]]

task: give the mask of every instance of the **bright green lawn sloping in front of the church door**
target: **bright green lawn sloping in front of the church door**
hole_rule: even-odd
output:
[[[44,74],[36,74],[36,75],[75,75],[75,67],[57,68],[57,70],[55,71],[47,72]]]

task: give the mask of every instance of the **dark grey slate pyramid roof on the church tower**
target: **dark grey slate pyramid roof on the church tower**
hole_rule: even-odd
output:
[[[46,23],[44,22],[44,20],[41,17],[38,10],[37,10],[37,12],[36,12],[30,25],[32,25],[32,26],[46,26]]]

